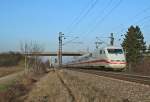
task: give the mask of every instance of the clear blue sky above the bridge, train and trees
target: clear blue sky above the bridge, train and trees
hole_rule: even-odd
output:
[[[19,50],[20,42],[37,41],[56,51],[58,32],[67,40],[66,51],[94,49],[96,36],[116,43],[130,25],[139,25],[150,44],[150,0],[0,0],[0,52]],[[64,41],[64,42],[65,42]]]

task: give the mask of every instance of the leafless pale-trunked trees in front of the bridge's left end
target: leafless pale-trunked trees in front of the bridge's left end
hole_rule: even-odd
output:
[[[41,53],[44,51],[44,47],[37,42],[25,42],[20,44],[21,52],[25,55],[25,71],[40,73],[45,70],[42,67],[42,58],[40,56],[28,56],[32,53]]]

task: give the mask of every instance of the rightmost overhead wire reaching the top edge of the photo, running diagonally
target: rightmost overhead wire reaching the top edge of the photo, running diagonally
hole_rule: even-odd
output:
[[[121,2],[122,0],[119,0],[119,2],[95,24],[95,26],[88,32],[88,34],[91,33],[94,29],[96,29],[99,24],[104,22],[104,20],[121,4]]]

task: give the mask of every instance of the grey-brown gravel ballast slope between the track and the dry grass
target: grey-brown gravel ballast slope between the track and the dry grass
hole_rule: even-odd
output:
[[[66,80],[66,82],[68,81],[68,85],[70,87],[72,86],[70,84],[71,81],[69,81],[69,77],[67,78],[66,76],[70,76],[70,79],[72,81],[80,80],[81,82],[84,82],[85,84],[84,87],[89,88],[92,86],[97,91],[103,92],[103,94],[105,94],[106,96],[114,97],[116,101],[119,102],[150,102],[149,85],[139,84],[135,82],[128,82],[71,70],[63,70],[62,73],[64,73],[63,74],[64,79]]]

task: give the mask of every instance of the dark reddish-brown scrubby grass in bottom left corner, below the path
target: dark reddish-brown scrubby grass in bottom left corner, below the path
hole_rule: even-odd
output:
[[[8,89],[0,92],[0,102],[22,102],[36,81],[24,76],[9,85]]]

